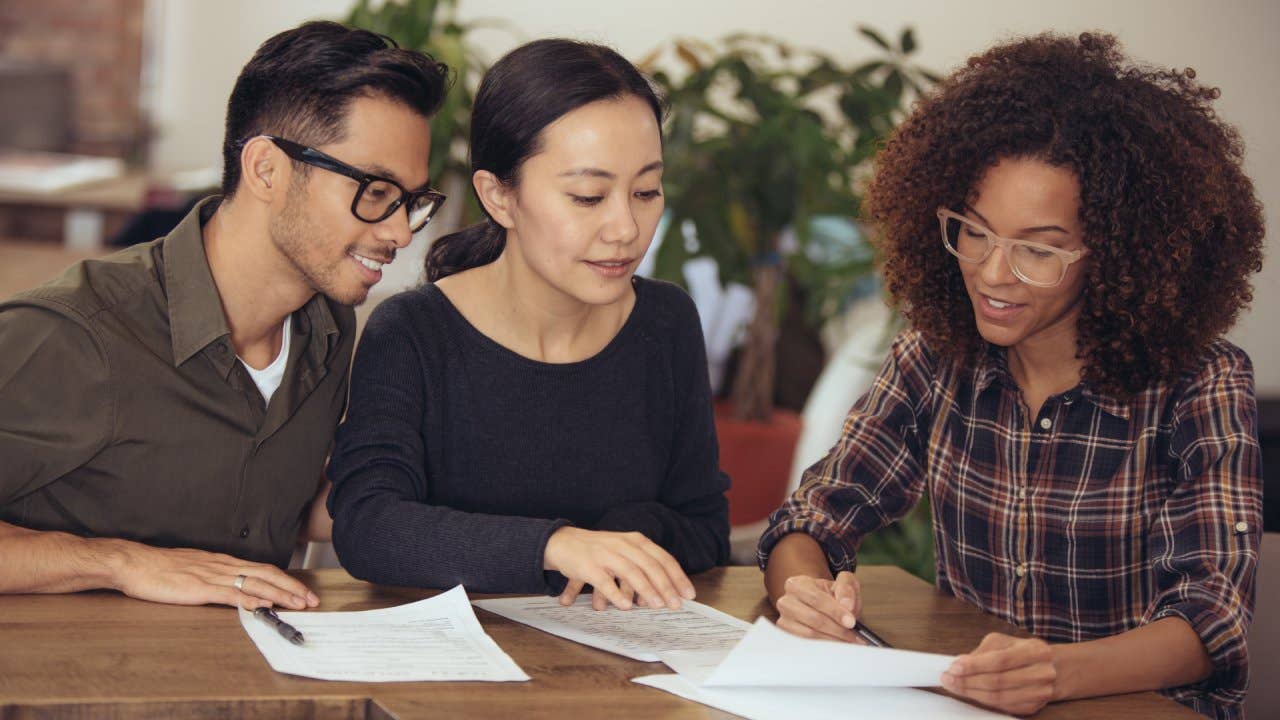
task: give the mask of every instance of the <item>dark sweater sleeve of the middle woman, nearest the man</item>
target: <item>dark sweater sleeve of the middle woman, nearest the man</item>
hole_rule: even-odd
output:
[[[333,544],[348,573],[375,583],[472,592],[553,592],[543,571],[553,532],[568,524],[430,505],[422,432],[428,383],[413,314],[390,299],[356,351],[347,419],[329,477]],[[421,340],[421,338],[419,338]]]

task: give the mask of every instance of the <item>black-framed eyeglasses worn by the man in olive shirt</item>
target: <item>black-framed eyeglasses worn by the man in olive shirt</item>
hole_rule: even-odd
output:
[[[275,137],[274,135],[264,135],[262,137],[274,142],[285,155],[298,163],[306,163],[307,165],[338,173],[358,182],[360,187],[356,188],[356,196],[351,200],[351,214],[358,220],[380,223],[390,218],[403,205],[408,214],[410,232],[417,232],[426,227],[426,223],[431,222],[436,210],[444,205],[445,196],[438,190],[426,188],[410,192],[401,183],[390,178],[371,176],[364,170],[352,168],[315,147],[307,147],[306,145]]]

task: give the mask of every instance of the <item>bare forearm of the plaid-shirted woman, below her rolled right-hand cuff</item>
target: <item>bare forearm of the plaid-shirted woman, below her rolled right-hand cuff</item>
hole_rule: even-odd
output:
[[[1189,685],[1213,671],[1204,644],[1181,618],[1096,641],[1053,646],[1053,700]]]

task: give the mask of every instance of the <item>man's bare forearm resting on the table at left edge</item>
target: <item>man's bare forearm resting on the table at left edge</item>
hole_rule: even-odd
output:
[[[123,542],[0,523],[0,593],[114,588]]]

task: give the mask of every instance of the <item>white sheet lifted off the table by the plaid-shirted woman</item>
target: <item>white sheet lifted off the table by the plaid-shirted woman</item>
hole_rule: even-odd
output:
[[[950,655],[911,652],[792,635],[755,621],[704,687],[941,687]]]

